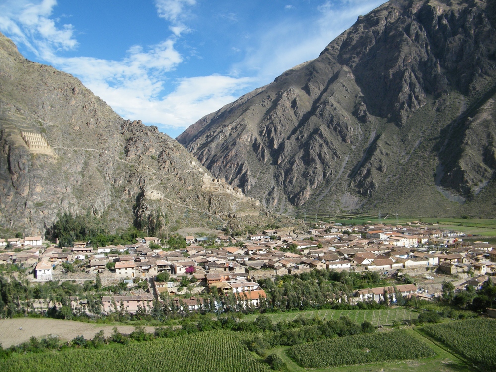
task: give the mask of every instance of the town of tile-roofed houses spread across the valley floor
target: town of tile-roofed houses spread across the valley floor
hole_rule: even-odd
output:
[[[423,287],[406,283],[362,288],[343,294],[337,302],[380,302],[387,294],[395,301],[397,293],[430,300],[441,294],[441,281],[434,284],[434,276],[454,277],[457,289],[480,289],[495,274],[492,245],[464,242],[463,237],[420,221],[353,227],[320,222],[306,232],[265,229],[243,239],[191,235],[184,237],[186,244],[180,249],[170,249],[156,237],[137,238],[130,245],[92,247],[75,242],[73,247],[57,247],[58,242],[44,243],[41,236],[34,236],[0,239],[0,264],[27,268],[33,282],[82,283],[98,276],[106,284],[124,283],[123,294],[101,298],[104,314],[151,311],[154,301],[166,298],[181,310],[200,310],[210,306],[206,299],[212,292],[234,295],[241,308],[257,308],[267,298],[257,280],[315,269],[378,272],[391,278],[416,275],[421,279],[417,282],[433,282]],[[84,299],[70,300],[72,309],[91,313]],[[37,307],[47,308],[42,301]]]

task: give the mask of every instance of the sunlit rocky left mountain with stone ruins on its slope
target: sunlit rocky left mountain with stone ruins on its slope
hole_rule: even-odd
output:
[[[264,215],[258,204],[176,140],[122,119],[78,79],[26,60],[0,34],[3,230],[42,234],[65,212],[99,217],[109,232],[133,222],[236,227]]]

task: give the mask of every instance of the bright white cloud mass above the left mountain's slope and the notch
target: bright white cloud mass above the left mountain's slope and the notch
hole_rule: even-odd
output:
[[[194,0],[159,0],[161,17],[171,22],[176,36],[188,28],[185,6]],[[43,60],[79,77],[83,84],[128,119],[141,119],[166,127],[185,129],[203,115],[234,101],[250,79],[221,75],[168,81],[167,72],[183,62],[172,37],[148,47],[132,46],[120,61],[93,57],[61,57],[59,49],[73,49],[77,42],[71,25],[57,27],[50,19],[55,0],[8,0],[0,4],[0,29],[27,46]],[[165,84],[173,86],[164,95]]]

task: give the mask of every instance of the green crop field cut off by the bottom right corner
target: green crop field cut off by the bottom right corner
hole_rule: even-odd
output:
[[[430,324],[423,331],[484,371],[496,371],[496,320],[470,319]]]

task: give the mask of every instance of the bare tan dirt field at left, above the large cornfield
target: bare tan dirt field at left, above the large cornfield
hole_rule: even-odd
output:
[[[105,336],[112,334],[114,325],[82,323],[70,320],[58,320],[47,318],[16,318],[0,320],[0,342],[4,348],[28,341],[31,336],[41,338],[52,334],[59,336],[62,340],[72,340],[74,337],[83,335],[91,339],[101,329]],[[131,325],[118,325],[121,333],[129,334],[134,330]],[[145,327],[146,332],[153,332],[155,327]]]

